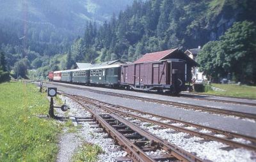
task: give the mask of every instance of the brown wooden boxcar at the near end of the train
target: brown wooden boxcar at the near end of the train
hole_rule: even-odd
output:
[[[125,64],[121,69],[121,84],[132,89],[180,92],[185,81],[186,61],[181,59]]]

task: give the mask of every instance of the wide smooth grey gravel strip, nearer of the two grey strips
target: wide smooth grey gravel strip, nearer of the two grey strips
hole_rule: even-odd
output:
[[[49,86],[52,86],[52,85],[49,85]],[[184,110],[182,108],[159,105],[156,103],[146,103],[143,101],[137,101],[132,99],[118,98],[115,96],[106,96],[104,94],[97,94],[93,92],[83,91],[82,89],[74,90],[74,89],[61,87],[57,85],[54,85],[52,87],[57,87],[59,91],[64,91],[70,94],[77,94],[77,95],[86,96],[94,99],[99,99],[100,101],[105,101],[107,103],[134,108],[137,110],[143,110],[148,113],[163,115],[164,117],[182,119],[183,121],[187,121],[187,122],[193,122],[196,124],[202,124],[205,126],[211,126],[213,128],[223,129],[223,130],[232,131],[235,133],[241,133],[244,135],[256,137],[255,121],[236,119],[235,117],[225,117],[223,115],[214,115],[206,112]],[[149,94],[145,94],[145,95],[149,95]],[[167,96],[161,96],[161,97],[166,98]]]

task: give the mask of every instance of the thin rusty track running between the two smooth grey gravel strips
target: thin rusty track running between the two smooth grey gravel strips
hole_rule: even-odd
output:
[[[72,85],[61,85],[61,86],[69,87],[72,89],[80,89],[80,88],[74,87]],[[120,98],[136,99],[136,100],[150,102],[150,103],[159,103],[159,104],[169,105],[172,107],[184,108],[184,109],[188,109],[188,110],[199,110],[199,111],[203,111],[203,112],[209,112],[212,114],[228,115],[228,116],[256,120],[256,114],[237,112],[234,110],[227,110],[227,109],[213,108],[213,107],[203,107],[203,106],[198,106],[198,105],[179,103],[179,102],[175,102],[175,101],[164,101],[161,99],[143,98],[140,96],[132,96],[129,94],[120,94],[120,93],[115,93],[115,92],[106,92],[106,91],[99,91],[99,90],[95,90],[95,89],[88,89],[86,87],[83,87],[83,90],[89,91],[89,92],[95,92],[98,94],[106,94],[109,96],[116,96],[116,97],[120,97]]]

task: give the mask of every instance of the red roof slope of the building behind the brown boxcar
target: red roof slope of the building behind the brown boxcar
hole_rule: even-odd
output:
[[[159,61],[164,57],[166,57],[167,55],[172,54],[172,52],[174,52],[175,50],[177,50],[177,48],[145,54],[140,59],[135,61],[134,64],[145,63],[150,61]]]

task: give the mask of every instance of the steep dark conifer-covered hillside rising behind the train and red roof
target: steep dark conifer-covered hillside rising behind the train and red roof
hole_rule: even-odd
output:
[[[134,61],[147,52],[203,47],[218,40],[234,22],[255,22],[253,10],[250,0],[135,1],[97,32],[91,32],[93,26],[86,28],[84,37],[77,38],[72,46],[84,48],[79,49],[83,51],[81,57],[76,56],[77,48],[71,49],[75,61],[91,62],[117,58]]]

